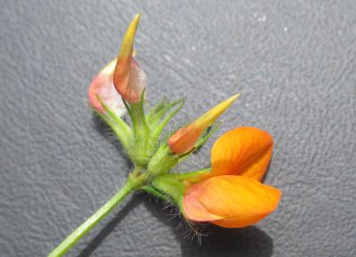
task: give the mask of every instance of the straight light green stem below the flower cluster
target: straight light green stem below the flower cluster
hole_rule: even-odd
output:
[[[140,187],[138,180],[128,180],[124,187],[120,189],[117,194],[109,199],[105,205],[93,214],[89,219],[87,219],[80,227],[74,230],[61,245],[58,245],[48,257],[60,257],[69,251],[69,249],[77,243],[77,241],[85,236],[85,234],[93,227],[98,224],[103,218],[105,218],[118,204],[120,204],[127,195],[133,192],[135,189]]]

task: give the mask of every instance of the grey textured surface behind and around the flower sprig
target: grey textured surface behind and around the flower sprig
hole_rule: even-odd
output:
[[[255,227],[206,227],[198,245],[137,194],[68,256],[356,256],[356,2],[215,2],[1,1],[1,256],[45,256],[125,181],[86,90],[136,12],[149,99],[186,95],[178,125],[241,92],[214,139],[270,132],[266,183],[283,200]],[[214,139],[180,169],[208,165]]]

